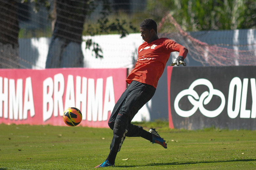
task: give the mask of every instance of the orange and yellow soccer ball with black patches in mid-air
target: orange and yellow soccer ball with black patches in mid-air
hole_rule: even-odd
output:
[[[82,113],[78,108],[69,107],[63,114],[63,121],[68,126],[76,126],[82,121]]]

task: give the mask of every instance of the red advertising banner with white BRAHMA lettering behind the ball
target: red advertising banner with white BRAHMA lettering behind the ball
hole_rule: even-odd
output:
[[[0,69],[0,123],[65,125],[68,107],[83,126],[108,127],[126,88],[126,68]]]

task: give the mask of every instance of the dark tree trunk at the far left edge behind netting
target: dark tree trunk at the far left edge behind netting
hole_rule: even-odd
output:
[[[19,68],[18,3],[0,0],[0,68]]]

